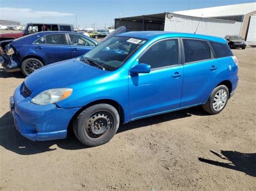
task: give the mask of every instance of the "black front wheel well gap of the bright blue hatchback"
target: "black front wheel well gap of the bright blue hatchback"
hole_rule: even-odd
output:
[[[81,109],[79,109],[76,114],[71,118],[70,122],[69,122],[69,126],[68,126],[68,131],[71,131],[72,130],[72,124],[73,124],[73,120],[82,112],[84,111],[86,108],[89,108],[90,106],[92,105],[96,105],[96,104],[100,104],[100,103],[105,103],[105,104],[109,104],[109,105],[112,105],[114,108],[116,108],[116,110],[118,111],[118,114],[120,116],[120,123],[124,123],[124,109],[122,108],[122,106],[114,101],[114,100],[108,100],[108,99],[105,99],[105,100],[97,100],[97,101],[94,101],[94,102],[91,102],[87,105],[85,105],[84,107],[82,107]]]

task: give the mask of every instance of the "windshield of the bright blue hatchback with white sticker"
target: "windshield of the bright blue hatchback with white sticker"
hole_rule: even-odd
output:
[[[113,37],[83,55],[81,61],[95,62],[105,70],[113,71],[122,66],[145,41],[131,37]]]

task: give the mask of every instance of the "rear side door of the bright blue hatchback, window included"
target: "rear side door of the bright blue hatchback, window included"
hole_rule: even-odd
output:
[[[208,41],[182,38],[184,79],[181,107],[205,103],[221,72]]]

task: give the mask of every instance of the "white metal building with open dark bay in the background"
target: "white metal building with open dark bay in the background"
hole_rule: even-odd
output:
[[[216,6],[212,8],[176,11],[115,19],[115,29],[126,26],[128,31],[173,31],[225,37],[228,34],[248,36],[251,16],[256,15],[256,3]],[[254,17],[252,17],[254,18]],[[255,27],[251,27],[255,33]],[[250,31],[249,31],[250,32]],[[255,41],[252,39],[252,41]]]

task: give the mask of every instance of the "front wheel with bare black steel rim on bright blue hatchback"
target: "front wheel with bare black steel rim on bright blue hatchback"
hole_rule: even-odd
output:
[[[73,121],[73,131],[85,146],[105,144],[112,139],[119,128],[119,114],[109,104],[96,104],[85,109]]]

